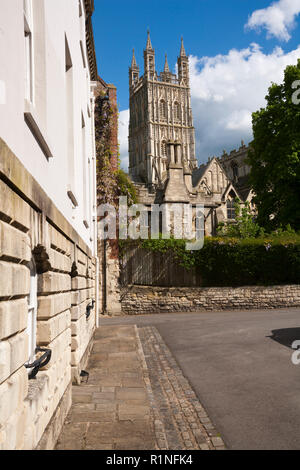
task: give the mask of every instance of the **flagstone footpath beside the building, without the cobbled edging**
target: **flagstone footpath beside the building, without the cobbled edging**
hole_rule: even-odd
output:
[[[98,329],[87,371],[88,380],[72,387],[72,407],[56,450],[155,448],[136,328]]]

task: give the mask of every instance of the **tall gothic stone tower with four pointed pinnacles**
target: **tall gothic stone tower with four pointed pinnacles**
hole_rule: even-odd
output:
[[[189,171],[197,168],[189,59],[183,40],[177,64],[178,75],[174,75],[166,56],[164,71],[157,74],[148,31],[144,75],[140,77],[134,51],[129,68],[129,173],[133,181],[149,187],[159,187],[166,180],[171,143],[181,147],[182,164]]]

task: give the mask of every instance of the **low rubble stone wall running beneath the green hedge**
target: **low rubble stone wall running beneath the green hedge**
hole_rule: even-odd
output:
[[[122,312],[127,315],[300,307],[300,285],[238,288],[128,286],[122,289],[121,303]]]

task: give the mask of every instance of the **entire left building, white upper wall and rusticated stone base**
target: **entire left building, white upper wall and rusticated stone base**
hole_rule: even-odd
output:
[[[0,7],[0,449],[52,449],[97,323],[94,4]]]

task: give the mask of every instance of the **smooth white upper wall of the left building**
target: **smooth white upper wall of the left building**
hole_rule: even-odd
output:
[[[23,0],[0,0],[0,137],[38,181],[87,245],[93,249],[94,136],[92,92],[85,41],[85,11],[83,7],[83,15],[80,17],[78,0],[32,0],[32,5],[33,111],[53,158],[46,158],[24,121]],[[73,64],[73,183],[70,181],[68,163],[65,37]],[[86,68],[82,60],[80,41],[83,43]],[[85,156],[90,159],[90,171],[86,172],[85,182],[82,116],[86,132]],[[87,169],[88,165],[87,161]],[[78,202],[76,208],[67,194],[70,189]],[[86,191],[86,208],[84,191]],[[88,228],[84,225],[84,221],[87,222]]]

